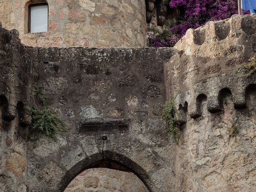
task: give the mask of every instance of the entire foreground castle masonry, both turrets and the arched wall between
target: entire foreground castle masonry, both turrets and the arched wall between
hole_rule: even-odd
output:
[[[244,62],[255,32],[254,14],[234,15],[174,48],[35,48],[0,28],[0,190],[64,192],[104,167],[133,172],[150,192],[254,192],[256,76]],[[68,125],[58,142],[26,137],[36,83]],[[170,96],[178,144],[160,118]]]

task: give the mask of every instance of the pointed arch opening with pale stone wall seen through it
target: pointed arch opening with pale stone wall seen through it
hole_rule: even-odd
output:
[[[76,176],[64,192],[149,192],[128,168],[110,159],[91,165]]]

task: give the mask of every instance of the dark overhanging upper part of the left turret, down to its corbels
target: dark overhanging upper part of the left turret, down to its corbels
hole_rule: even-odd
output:
[[[31,104],[32,65],[16,30],[0,25],[0,106],[2,118],[16,116],[22,126],[31,124],[26,106]]]

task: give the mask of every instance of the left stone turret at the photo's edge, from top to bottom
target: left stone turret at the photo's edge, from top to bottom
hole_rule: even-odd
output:
[[[10,44],[15,46],[6,46]],[[16,30],[0,28],[0,191],[4,192],[26,192],[27,129],[20,124],[31,123],[22,102],[30,102],[32,78],[29,61],[21,65],[26,63],[22,55],[26,57]]]

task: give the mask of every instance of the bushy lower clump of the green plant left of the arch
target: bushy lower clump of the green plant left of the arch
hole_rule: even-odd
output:
[[[28,108],[28,111],[32,116],[32,126],[28,132],[28,138],[31,140],[37,140],[43,134],[56,140],[55,133],[66,129],[65,122],[52,109]]]

